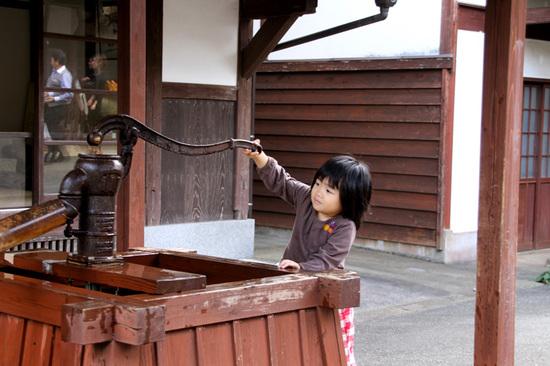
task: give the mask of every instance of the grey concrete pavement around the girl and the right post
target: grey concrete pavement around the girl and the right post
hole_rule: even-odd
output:
[[[255,236],[254,259],[276,263],[289,232]],[[550,250],[519,253],[515,365],[550,364]],[[361,278],[355,312],[357,364],[473,365],[476,263],[441,264],[352,248],[346,269]]]

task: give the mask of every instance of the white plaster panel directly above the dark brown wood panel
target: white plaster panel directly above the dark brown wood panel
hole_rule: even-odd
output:
[[[239,0],[165,0],[162,81],[235,86]]]

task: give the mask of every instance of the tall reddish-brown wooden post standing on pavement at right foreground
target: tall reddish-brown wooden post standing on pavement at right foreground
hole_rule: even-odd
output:
[[[481,133],[475,365],[513,365],[526,0],[488,0]]]

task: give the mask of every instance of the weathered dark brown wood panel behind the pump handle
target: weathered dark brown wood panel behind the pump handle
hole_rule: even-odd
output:
[[[235,135],[234,101],[165,98],[162,106],[162,131],[172,139],[210,144]],[[233,150],[161,154],[161,225],[233,219]]]

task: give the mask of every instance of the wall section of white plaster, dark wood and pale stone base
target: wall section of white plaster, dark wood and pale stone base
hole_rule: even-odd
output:
[[[165,0],[163,9],[154,10],[162,32],[148,40],[148,48],[161,45],[148,57],[148,69],[160,70],[148,78],[149,123],[194,145],[240,137],[239,1]],[[234,220],[235,185],[248,186],[239,181],[248,178],[236,174],[237,154],[183,156],[149,146],[145,245],[251,258],[254,220]]]

